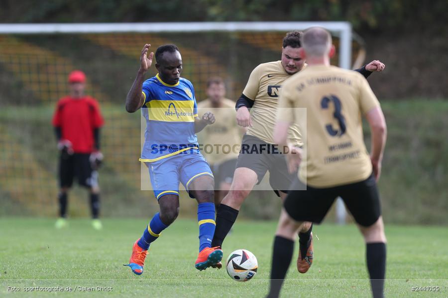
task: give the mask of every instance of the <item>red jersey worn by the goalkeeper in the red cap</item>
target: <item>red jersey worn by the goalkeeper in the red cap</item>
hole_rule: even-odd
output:
[[[103,123],[98,102],[90,96],[61,98],[53,115],[53,126],[61,128],[62,139],[72,143],[75,153],[94,150],[94,129]]]

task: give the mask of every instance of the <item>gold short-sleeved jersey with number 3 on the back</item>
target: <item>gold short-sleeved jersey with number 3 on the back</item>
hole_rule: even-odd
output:
[[[317,65],[288,79],[277,121],[295,123],[301,129],[306,156],[299,179],[312,187],[367,179],[372,164],[364,144],[361,114],[377,106],[367,80],[357,72]]]

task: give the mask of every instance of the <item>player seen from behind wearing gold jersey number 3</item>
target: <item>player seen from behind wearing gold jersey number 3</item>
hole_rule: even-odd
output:
[[[286,144],[289,126],[298,124],[306,128],[301,130],[305,155],[288,154],[290,169],[300,165],[300,170],[280,215],[268,297],[279,295],[301,225],[321,223],[340,196],[364,236],[373,297],[380,298],[386,236],[376,181],[386,143],[384,115],[362,75],[330,65],[335,47],[327,30],[310,28],[301,42],[300,57],[306,59],[308,67],[283,85],[274,141]],[[370,125],[370,156],[364,145],[360,115]]]

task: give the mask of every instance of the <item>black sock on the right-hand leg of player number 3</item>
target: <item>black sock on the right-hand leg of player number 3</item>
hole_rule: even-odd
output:
[[[386,275],[386,243],[367,243],[366,246],[367,269],[373,298],[383,298]]]

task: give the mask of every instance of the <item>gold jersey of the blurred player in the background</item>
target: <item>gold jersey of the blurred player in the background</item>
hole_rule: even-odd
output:
[[[206,112],[215,115],[215,123],[207,125],[197,134],[206,160],[210,164],[218,164],[238,157],[242,130],[236,124],[235,102],[224,98],[221,108],[212,108],[210,100],[203,100],[198,103],[199,117]]]

